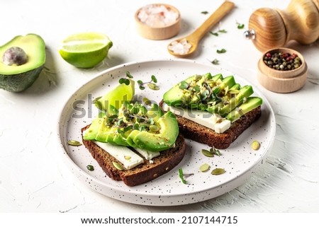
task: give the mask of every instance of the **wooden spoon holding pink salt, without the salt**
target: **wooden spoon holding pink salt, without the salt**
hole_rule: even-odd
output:
[[[198,47],[198,42],[201,41],[203,36],[208,33],[211,28],[213,28],[218,21],[221,20],[224,16],[226,16],[233,8],[235,7],[235,4],[231,1],[224,1],[221,6],[201,25],[199,26],[194,33],[191,33],[191,35],[188,35],[186,37],[182,37],[178,40],[175,40],[173,42],[181,42],[181,40],[187,40],[187,42],[191,45],[190,49],[186,53],[175,53],[172,50],[169,50],[169,46],[172,45],[173,42],[171,42],[167,49],[169,51],[169,54],[174,55],[175,57],[188,57],[189,55],[193,54],[195,50]]]

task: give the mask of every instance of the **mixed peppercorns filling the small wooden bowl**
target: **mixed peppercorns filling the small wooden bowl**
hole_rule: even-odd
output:
[[[264,54],[264,64],[272,69],[288,71],[297,69],[301,66],[301,58],[297,54],[290,54],[288,52],[267,52]]]

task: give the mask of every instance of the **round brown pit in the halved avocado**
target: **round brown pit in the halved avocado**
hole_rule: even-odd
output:
[[[10,47],[4,52],[2,62],[8,66],[19,66],[28,62],[28,56],[21,47]]]

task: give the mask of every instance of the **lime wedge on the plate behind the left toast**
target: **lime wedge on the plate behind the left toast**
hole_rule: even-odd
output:
[[[130,84],[126,85],[125,83],[121,83],[113,88],[113,90],[106,93],[106,95],[96,100],[96,106],[101,110],[106,110],[106,112],[113,114],[121,107],[124,101],[130,102],[133,100],[135,94],[135,82],[131,79],[129,80]],[[114,110],[114,108],[116,110]]]

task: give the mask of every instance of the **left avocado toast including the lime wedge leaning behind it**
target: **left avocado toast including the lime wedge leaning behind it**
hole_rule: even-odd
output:
[[[113,180],[135,186],[154,180],[172,170],[184,157],[185,141],[179,134],[172,112],[164,113],[159,105],[143,105],[132,100],[114,102],[122,97],[133,98],[119,85],[95,103],[99,115],[82,128],[82,141],[103,171]],[[134,91],[134,90],[133,90]],[[104,103],[104,104],[102,104]],[[113,105],[110,105],[113,104]]]

